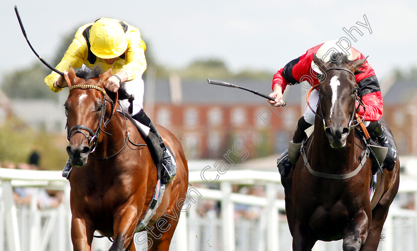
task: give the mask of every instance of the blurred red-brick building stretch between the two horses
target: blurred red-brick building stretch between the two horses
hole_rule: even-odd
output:
[[[171,80],[172,81],[172,80]],[[248,79],[230,80],[265,94],[271,83]],[[148,85],[145,87],[148,88]],[[187,156],[231,161],[283,151],[302,115],[303,96],[295,93],[285,108],[272,108],[266,99],[207,79],[156,81],[154,93],[145,93],[144,110],[159,125],[170,129]],[[153,88],[150,88],[152,92]],[[149,97],[155,97],[152,103]]]

